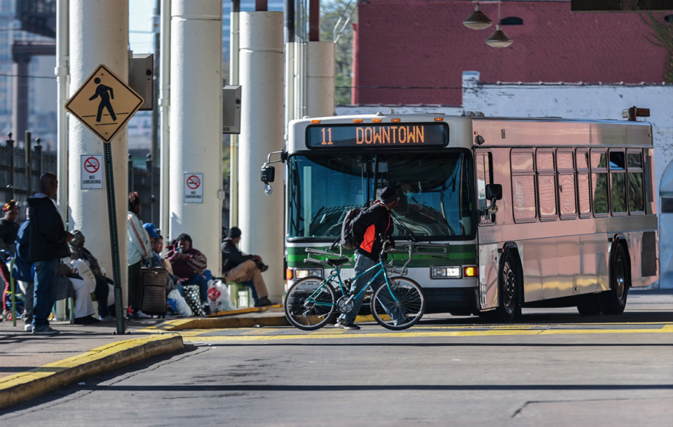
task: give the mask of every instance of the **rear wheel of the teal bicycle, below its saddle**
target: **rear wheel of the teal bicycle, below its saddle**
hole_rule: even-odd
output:
[[[285,295],[285,317],[296,328],[322,328],[334,313],[337,298],[334,289],[318,277],[306,277],[294,283]]]

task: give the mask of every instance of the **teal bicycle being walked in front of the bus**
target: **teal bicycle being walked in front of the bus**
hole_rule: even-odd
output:
[[[349,258],[328,258],[327,260],[311,259],[311,253],[320,255],[335,255],[324,251],[307,248],[309,258],[306,262],[314,262],[321,265],[330,265],[334,269],[327,279],[320,277],[306,277],[297,281],[287,290],[285,295],[285,317],[301,330],[316,330],[327,323],[334,323],[337,311],[346,314],[353,309],[353,301],[362,293],[372,288],[372,283],[383,274],[383,283],[374,289],[369,305],[372,309],[374,320],[383,328],[402,330],[416,324],[426,309],[426,300],[423,297],[421,286],[414,280],[404,276],[389,277],[384,264],[386,252],[390,252],[390,243],[384,241],[383,249],[379,254],[379,262],[369,267],[364,272],[351,279],[341,280],[339,266],[351,261]],[[409,261],[407,260],[407,264]],[[402,274],[405,267],[402,267]],[[390,262],[390,267],[392,261]],[[394,270],[393,270],[394,271]],[[360,292],[350,292],[351,283],[364,276],[375,272]],[[337,290],[332,285],[337,281],[341,296],[337,298]]]

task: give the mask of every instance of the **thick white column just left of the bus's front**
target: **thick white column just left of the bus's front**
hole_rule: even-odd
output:
[[[268,264],[264,281],[271,299],[278,302],[285,279],[283,173],[276,176],[276,191],[266,196],[259,168],[269,152],[283,149],[283,13],[240,13],[240,85],[240,248],[260,255]]]

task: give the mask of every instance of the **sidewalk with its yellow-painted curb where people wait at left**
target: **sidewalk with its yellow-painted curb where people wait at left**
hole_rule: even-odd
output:
[[[83,378],[183,349],[170,331],[287,325],[283,309],[240,309],[208,318],[142,319],[125,322],[127,335],[115,335],[116,322],[71,325],[52,321],[55,336],[25,332],[23,322],[0,322],[0,408],[32,399]]]

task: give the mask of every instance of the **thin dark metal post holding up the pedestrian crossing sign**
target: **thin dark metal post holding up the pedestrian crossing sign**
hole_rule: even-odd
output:
[[[105,181],[107,181],[107,214],[110,221],[110,244],[112,249],[112,280],[114,281],[114,311],[117,318],[117,334],[124,333],[124,310],[121,297],[121,269],[119,268],[119,241],[117,239],[117,216],[114,202],[114,176],[112,175],[112,149],[104,146]]]

